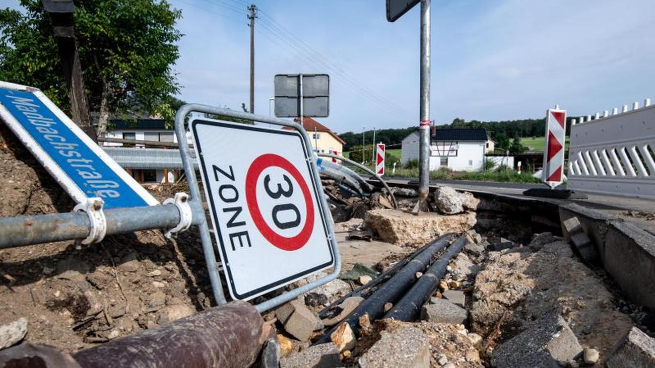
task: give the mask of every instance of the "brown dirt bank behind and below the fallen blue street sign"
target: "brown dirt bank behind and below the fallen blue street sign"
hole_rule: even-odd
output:
[[[68,212],[75,203],[0,126],[0,216]],[[159,200],[185,185],[152,185]],[[195,230],[107,236],[0,250],[0,324],[28,318],[27,342],[74,352],[213,304]]]

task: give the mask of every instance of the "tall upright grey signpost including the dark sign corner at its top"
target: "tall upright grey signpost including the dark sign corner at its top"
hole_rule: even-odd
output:
[[[386,20],[395,22],[414,5],[421,3],[421,104],[419,107],[419,202],[430,193],[430,0],[386,0]]]

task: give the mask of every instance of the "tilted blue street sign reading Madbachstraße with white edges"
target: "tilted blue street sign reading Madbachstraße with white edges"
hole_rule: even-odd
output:
[[[0,117],[76,202],[100,197],[105,209],[159,204],[40,90],[0,82]]]

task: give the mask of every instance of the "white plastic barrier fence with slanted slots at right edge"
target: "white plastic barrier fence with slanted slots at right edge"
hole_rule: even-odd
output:
[[[655,199],[655,105],[632,107],[573,121],[567,189]]]

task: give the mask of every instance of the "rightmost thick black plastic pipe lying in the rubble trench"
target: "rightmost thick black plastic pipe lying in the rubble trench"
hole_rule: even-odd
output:
[[[423,304],[430,299],[439,286],[439,280],[446,273],[446,267],[457,253],[466,245],[464,236],[458,238],[437,259],[430,268],[419,278],[405,296],[394,305],[384,318],[393,318],[399,321],[413,321],[419,317]]]

